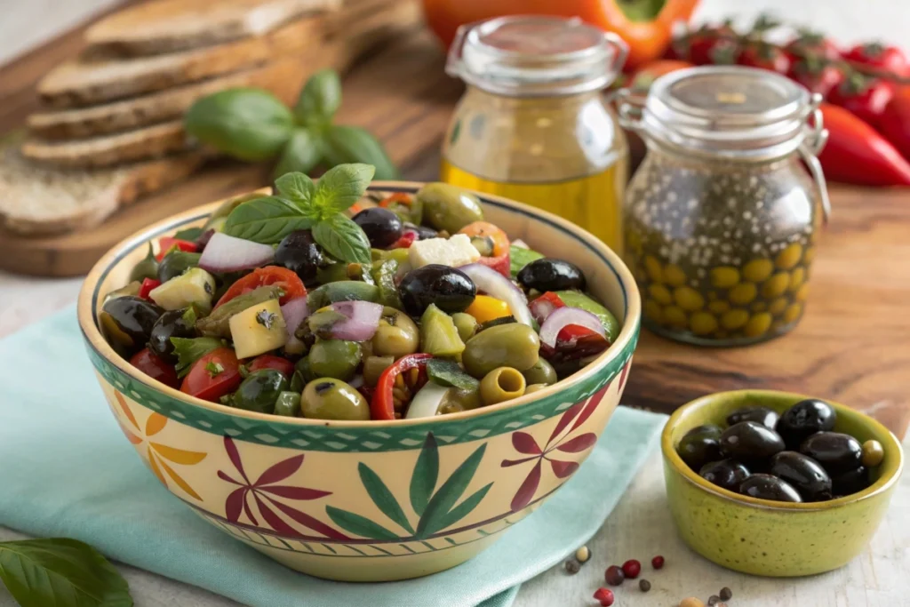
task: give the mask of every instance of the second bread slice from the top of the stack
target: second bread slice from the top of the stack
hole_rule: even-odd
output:
[[[318,44],[320,25],[318,18],[303,18],[268,35],[224,45],[132,59],[67,61],[38,82],[38,95],[49,106],[74,107],[161,91],[297,53]]]

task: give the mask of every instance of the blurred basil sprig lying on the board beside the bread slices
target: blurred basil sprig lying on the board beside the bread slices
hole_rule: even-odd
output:
[[[399,177],[376,137],[359,126],[332,124],[340,105],[339,75],[327,69],[309,78],[293,110],[264,89],[231,88],[194,103],[184,126],[228,156],[248,162],[278,158],[276,176],[364,163],[376,167],[378,179]]]

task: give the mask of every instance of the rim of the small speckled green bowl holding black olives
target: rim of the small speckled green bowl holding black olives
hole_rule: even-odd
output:
[[[784,390],[738,389],[728,390],[724,392],[714,392],[713,394],[706,394],[702,397],[699,397],[698,399],[690,400],[686,404],[682,405],[682,407],[679,409],[673,411],[670,419],[667,420],[666,425],[663,427],[663,431],[661,433],[661,451],[664,462],[667,465],[671,466],[673,470],[678,472],[683,479],[693,484],[702,491],[711,493],[719,498],[723,498],[726,501],[732,501],[742,506],[750,506],[759,510],[769,511],[813,512],[827,511],[842,506],[848,506],[857,501],[866,500],[875,497],[876,495],[885,493],[885,491],[889,491],[895,486],[898,479],[900,479],[901,473],[904,469],[904,450],[901,448],[900,441],[897,440],[894,433],[892,433],[891,430],[885,428],[881,422],[874,420],[861,411],[850,409],[846,405],[834,400],[824,399],[825,402],[837,410],[838,415],[844,414],[848,417],[854,418],[855,420],[859,420],[864,424],[864,426],[871,429],[876,434],[876,440],[881,442],[882,447],[885,449],[885,458],[887,459],[885,468],[882,470],[882,475],[878,478],[877,481],[866,487],[863,491],[845,495],[844,497],[838,498],[836,500],[791,503],[786,501],[760,500],[758,498],[749,497],[747,495],[741,495],[739,493],[734,493],[733,491],[723,489],[723,487],[718,487],[717,485],[704,480],[699,474],[689,468],[689,466],[684,461],[682,461],[682,458],[676,452],[672,441],[673,431],[676,429],[676,426],[682,416],[690,410],[710,406],[717,400],[744,399],[746,397],[759,399],[763,397],[786,398],[788,400],[793,399],[794,402],[804,399],[816,398],[805,394],[787,392]],[[890,456],[890,458],[888,456]]]

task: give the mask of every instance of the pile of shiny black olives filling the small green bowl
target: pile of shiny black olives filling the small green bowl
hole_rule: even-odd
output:
[[[884,457],[881,443],[834,431],[837,413],[807,399],[778,416],[759,405],[734,410],[725,428],[689,430],[677,452],[703,479],[772,501],[827,501],[863,491]]]

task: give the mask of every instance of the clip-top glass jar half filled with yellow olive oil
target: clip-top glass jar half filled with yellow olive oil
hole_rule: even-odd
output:
[[[579,19],[462,26],[446,70],[468,88],[443,144],[442,180],[551,211],[621,250],[628,144],[601,91],[626,52]]]

